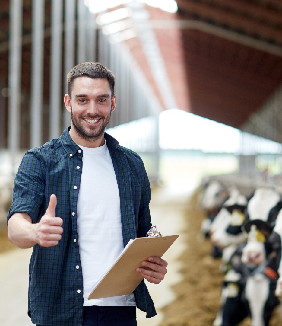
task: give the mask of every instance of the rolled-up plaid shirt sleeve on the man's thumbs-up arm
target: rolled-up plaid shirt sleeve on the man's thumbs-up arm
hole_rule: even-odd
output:
[[[33,151],[23,156],[14,181],[13,201],[7,222],[15,213],[27,213],[33,223],[39,220],[45,193],[45,177],[40,159]]]

